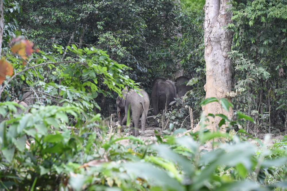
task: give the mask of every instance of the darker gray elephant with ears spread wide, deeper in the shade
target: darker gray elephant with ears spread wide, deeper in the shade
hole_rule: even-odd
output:
[[[175,82],[165,80],[164,78],[156,78],[152,82],[152,106],[154,115],[158,115],[165,108],[170,108],[170,102],[174,98],[183,96],[187,91],[192,89],[192,86],[187,86],[185,83],[189,78],[185,76],[178,77]],[[155,119],[154,126],[158,126],[158,121]]]

